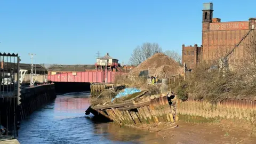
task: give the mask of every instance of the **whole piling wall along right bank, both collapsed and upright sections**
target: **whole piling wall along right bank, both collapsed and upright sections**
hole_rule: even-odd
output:
[[[124,125],[175,122],[179,119],[196,123],[214,122],[218,119],[244,119],[256,123],[256,100],[226,99],[217,104],[193,99],[185,102],[177,100],[174,110],[174,107],[169,105],[167,97],[151,95],[148,101],[133,101],[133,105],[123,103],[107,107],[97,109],[98,113],[102,113],[117,124]]]

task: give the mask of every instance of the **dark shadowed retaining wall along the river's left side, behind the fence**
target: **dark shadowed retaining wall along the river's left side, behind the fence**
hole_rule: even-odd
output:
[[[45,84],[21,90],[21,105],[15,109],[18,121],[25,119],[26,116],[33,113],[37,108],[42,107],[47,102],[56,98],[54,84]],[[13,130],[14,123],[14,105],[17,105],[17,97],[3,97],[0,99],[0,124],[8,131]],[[14,104],[14,105],[13,105]]]

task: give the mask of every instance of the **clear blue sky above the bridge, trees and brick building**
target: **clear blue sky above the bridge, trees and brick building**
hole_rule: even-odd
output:
[[[208,1],[10,1],[0,2],[0,52],[19,53],[29,63],[93,64],[99,51],[119,62],[133,49],[156,42],[181,53],[201,45],[202,8]],[[243,21],[256,17],[256,1],[212,1],[213,17]]]

